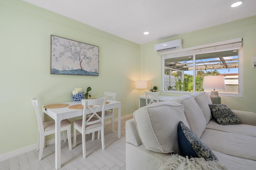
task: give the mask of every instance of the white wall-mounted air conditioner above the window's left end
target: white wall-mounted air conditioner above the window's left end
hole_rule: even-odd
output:
[[[155,51],[157,52],[169,51],[174,49],[182,49],[182,39],[176,39],[173,41],[168,41],[155,45]]]

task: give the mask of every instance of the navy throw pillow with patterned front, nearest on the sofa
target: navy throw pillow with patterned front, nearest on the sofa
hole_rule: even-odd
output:
[[[183,156],[218,160],[215,154],[182,121],[178,124],[178,144]]]

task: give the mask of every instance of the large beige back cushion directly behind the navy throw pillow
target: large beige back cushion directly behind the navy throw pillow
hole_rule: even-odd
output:
[[[134,111],[138,135],[144,147],[160,153],[181,153],[178,147],[177,126],[188,125],[184,106],[176,102],[157,102]]]

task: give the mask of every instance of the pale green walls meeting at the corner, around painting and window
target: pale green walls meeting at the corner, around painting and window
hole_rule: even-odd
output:
[[[256,16],[144,45],[20,0],[0,0],[0,21],[0,155],[36,144],[37,123],[30,102],[33,97],[39,104],[66,102],[71,100],[74,88],[91,86],[92,98],[102,97],[104,91],[117,92],[122,116],[133,113],[140,96],[134,80],[148,80],[148,85],[161,87],[161,59],[154,44],[173,39],[183,39],[186,48],[242,37],[243,98],[223,97],[222,103],[256,112],[256,68],[252,68]],[[99,46],[99,76],[50,74],[50,35]]]

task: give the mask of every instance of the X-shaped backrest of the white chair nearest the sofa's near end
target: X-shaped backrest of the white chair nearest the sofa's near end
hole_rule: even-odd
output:
[[[83,99],[82,105],[84,106],[83,110],[83,121],[82,121],[82,128],[85,129],[86,125],[91,125],[94,123],[101,122],[104,125],[104,117],[105,115],[105,102],[106,97],[100,99]],[[101,110],[102,108],[102,110]],[[102,111],[102,117],[98,115],[97,112]],[[86,115],[89,115],[88,119],[86,120]]]

